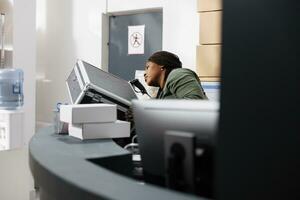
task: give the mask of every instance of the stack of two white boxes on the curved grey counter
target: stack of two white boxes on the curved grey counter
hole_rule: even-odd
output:
[[[60,120],[69,123],[70,136],[82,140],[130,136],[130,123],[117,120],[113,104],[62,105]]]

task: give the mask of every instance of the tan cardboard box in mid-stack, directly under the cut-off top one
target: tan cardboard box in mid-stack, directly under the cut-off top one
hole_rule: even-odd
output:
[[[222,11],[200,13],[200,44],[222,43]]]

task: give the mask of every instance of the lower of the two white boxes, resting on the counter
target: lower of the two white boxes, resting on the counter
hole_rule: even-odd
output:
[[[129,137],[130,123],[117,120],[110,123],[69,124],[69,135],[82,140]]]

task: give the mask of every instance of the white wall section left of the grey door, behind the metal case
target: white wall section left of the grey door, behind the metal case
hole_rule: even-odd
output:
[[[56,103],[68,102],[65,80],[76,59],[83,59],[100,67],[101,14],[104,11],[105,1],[99,0],[37,2],[39,122],[52,122],[52,110]]]

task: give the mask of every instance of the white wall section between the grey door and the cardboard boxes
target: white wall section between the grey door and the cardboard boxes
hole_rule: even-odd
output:
[[[168,0],[164,5],[163,49],[177,54],[183,67],[196,70],[199,14],[196,0]]]

